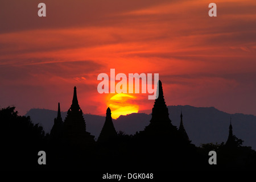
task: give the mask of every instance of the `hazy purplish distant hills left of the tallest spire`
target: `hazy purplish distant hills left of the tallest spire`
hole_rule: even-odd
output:
[[[30,116],[33,123],[40,123],[46,133],[50,133],[54,118],[57,117],[57,111],[48,109],[31,109],[26,116]],[[61,112],[61,117],[64,121],[67,112]],[[101,129],[105,122],[105,117],[101,115],[84,114],[86,123],[86,131],[98,138]],[[123,131],[126,134],[135,134],[136,131],[141,131],[150,122],[151,115],[144,113],[133,113],[129,115],[121,115],[118,119],[112,119],[115,130]]]

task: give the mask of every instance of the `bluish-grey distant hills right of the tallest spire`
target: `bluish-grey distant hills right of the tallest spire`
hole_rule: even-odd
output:
[[[256,150],[256,117],[246,114],[228,114],[214,107],[168,106],[172,124],[179,127],[180,111],[189,139],[199,146],[201,143],[226,142],[230,117],[233,134],[244,140],[243,146]]]

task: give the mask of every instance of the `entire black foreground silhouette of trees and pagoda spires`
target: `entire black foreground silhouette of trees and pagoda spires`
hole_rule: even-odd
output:
[[[200,147],[196,147],[189,138],[186,127],[184,127],[184,110],[183,113],[180,112],[179,128],[172,125],[168,107],[164,100],[162,84],[159,84],[159,97],[152,107],[151,119],[148,125],[134,135],[127,135],[122,131],[117,132],[115,130],[111,117],[112,113],[108,107],[104,125],[101,126],[100,137],[95,140],[95,137],[89,132],[88,126],[86,126],[79,101],[77,100],[76,87],[74,88],[71,107],[65,119],[61,116],[60,104],[58,104],[57,117],[54,119],[50,134],[45,135],[43,127],[39,125],[25,124],[31,123],[30,117],[20,117],[14,109],[15,107],[7,107],[0,110],[1,121],[7,129],[7,133],[5,131],[1,134],[5,136],[9,130],[14,130],[11,133],[12,137],[9,140],[4,140],[3,143],[7,145],[16,143],[18,142],[16,137],[19,135],[18,140],[23,140],[23,144],[28,142],[28,146],[25,147],[28,150],[28,154],[35,152],[38,148],[44,148],[44,151],[47,151],[47,154],[51,156],[48,159],[50,161],[48,165],[38,166],[34,161],[35,154],[32,156],[26,155],[26,158],[24,158],[27,162],[25,169],[55,170],[67,169],[67,167],[71,169],[70,167],[72,166],[72,169],[94,171],[95,168],[92,168],[92,166],[96,164],[98,166],[99,163],[101,170],[117,170],[120,165],[124,169],[133,167],[133,169],[146,170],[170,170],[174,168],[183,170],[185,168],[187,170],[192,167],[196,170],[256,169],[256,152],[249,146],[242,146],[244,141],[236,137],[234,134],[236,131],[233,133],[231,118],[229,135],[226,141],[204,143]],[[27,130],[25,134],[22,134],[22,128]],[[35,136],[32,137],[33,135]],[[29,140],[26,141],[24,140],[25,138]],[[31,139],[36,142],[35,146],[30,145]],[[3,150],[3,154],[7,156],[6,160],[8,161],[6,163],[4,160],[4,165],[8,166],[8,169],[16,168],[11,167],[12,161],[16,159],[12,157],[10,151],[19,145],[19,142],[11,144],[12,147],[5,147],[6,149]],[[134,148],[136,148],[136,151],[134,151]],[[212,151],[218,154],[218,166],[216,165],[216,158],[213,159],[215,161],[213,165],[210,160],[207,160],[209,158],[208,152],[210,154]],[[155,156],[152,156],[151,152]],[[227,156],[227,154],[231,155]],[[106,158],[106,156],[108,157]],[[145,158],[145,156],[147,157]],[[120,159],[125,163],[119,164],[117,167],[113,162],[118,162]],[[138,162],[139,160],[141,162]],[[81,166],[81,162],[89,162],[90,165]],[[109,162],[112,163],[106,165]],[[167,167],[164,164],[166,162],[172,162],[175,167]],[[75,168],[73,165],[75,165]],[[157,168],[155,168],[156,166]]]

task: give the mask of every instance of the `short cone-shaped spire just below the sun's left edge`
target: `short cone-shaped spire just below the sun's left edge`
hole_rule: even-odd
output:
[[[116,136],[117,136],[117,131],[115,131],[112,117],[111,117],[111,110],[108,107],[108,109],[106,110],[106,120],[105,120],[104,126],[101,130],[100,137],[98,137],[97,142],[105,142],[105,141],[107,141],[111,138],[114,138]]]

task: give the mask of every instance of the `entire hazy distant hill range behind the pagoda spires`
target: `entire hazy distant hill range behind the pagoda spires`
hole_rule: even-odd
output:
[[[251,146],[256,150],[256,117],[246,114],[228,114],[214,107],[193,106],[168,106],[169,117],[172,125],[179,127],[180,111],[183,113],[183,124],[193,144],[200,146],[201,143],[226,142],[229,134],[230,117],[232,117],[233,134],[244,140],[243,146]],[[40,123],[44,131],[49,133],[53,126],[53,119],[57,111],[46,109],[31,109],[26,116],[30,115],[32,122]],[[61,112],[63,121],[67,112]],[[84,114],[86,131],[98,138],[104,125],[105,117],[100,115]],[[121,115],[113,119],[115,129],[126,134],[135,134],[141,131],[150,122],[151,114],[133,113]]]

